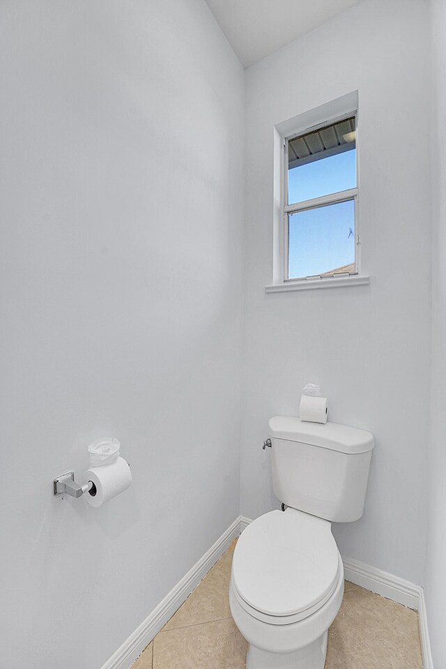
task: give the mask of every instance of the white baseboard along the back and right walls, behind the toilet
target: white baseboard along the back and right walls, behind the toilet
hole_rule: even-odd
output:
[[[240,529],[244,530],[251,522],[250,518],[240,516]],[[364,587],[365,590],[376,592],[376,594],[380,594],[382,597],[417,610],[423,668],[433,669],[423,588],[420,585],[415,585],[415,583],[410,583],[409,580],[389,574],[382,569],[370,567],[369,564],[364,564],[358,560],[349,560],[348,558],[344,560],[343,558],[342,562],[344,562],[344,576],[346,580]]]

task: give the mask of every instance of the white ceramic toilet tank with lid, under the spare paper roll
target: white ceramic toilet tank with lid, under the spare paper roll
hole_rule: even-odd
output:
[[[276,497],[334,523],[357,521],[364,511],[373,435],[287,416],[271,418],[268,426]]]

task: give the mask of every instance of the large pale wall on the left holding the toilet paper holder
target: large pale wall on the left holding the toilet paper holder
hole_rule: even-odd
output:
[[[98,669],[239,513],[243,68],[201,0],[0,13],[0,665]]]

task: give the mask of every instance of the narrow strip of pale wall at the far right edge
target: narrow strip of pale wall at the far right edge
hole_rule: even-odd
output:
[[[432,0],[432,413],[426,607],[433,662],[446,667],[446,5]]]

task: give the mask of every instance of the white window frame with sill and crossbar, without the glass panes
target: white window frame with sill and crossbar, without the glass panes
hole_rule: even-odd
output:
[[[356,123],[356,187],[330,193],[298,203],[288,204],[288,144],[291,139],[307,132],[314,132],[327,125],[355,116]],[[316,121],[316,122],[315,122]],[[323,160],[323,159],[321,159]],[[369,284],[369,277],[361,275],[361,232],[359,215],[360,144],[357,91],[343,98],[321,105],[310,112],[275,126],[275,232],[273,249],[273,283],[266,286],[267,293],[278,291],[334,288]],[[325,277],[289,278],[289,216],[299,211],[315,209],[348,200],[355,206],[355,272]]]

